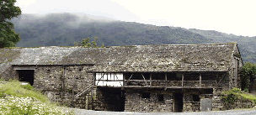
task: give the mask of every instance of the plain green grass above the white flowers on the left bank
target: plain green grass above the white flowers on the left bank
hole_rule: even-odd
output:
[[[29,84],[21,85],[19,81],[8,81],[8,83],[0,85],[0,97],[8,95],[13,97],[35,97],[40,100],[40,102],[51,103],[40,91],[36,91]]]

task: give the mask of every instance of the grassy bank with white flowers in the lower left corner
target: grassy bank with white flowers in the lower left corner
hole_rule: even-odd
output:
[[[22,85],[19,81],[0,80],[0,114],[2,115],[74,115],[72,110],[57,107],[33,86]]]

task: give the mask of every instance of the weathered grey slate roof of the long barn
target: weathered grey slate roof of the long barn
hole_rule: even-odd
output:
[[[9,65],[93,65],[91,71],[228,71],[235,43],[0,49]],[[3,56],[5,55],[5,56]]]

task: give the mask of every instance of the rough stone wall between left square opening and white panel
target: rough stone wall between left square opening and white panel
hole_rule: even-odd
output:
[[[29,66],[19,66],[16,68],[31,68]],[[80,97],[74,96],[87,89],[93,88],[93,73],[88,73],[90,66],[73,65],[73,66],[34,66],[34,87],[45,93],[53,102],[60,103],[67,107],[85,108],[88,100],[87,93]],[[18,74],[16,74],[18,77]],[[88,97],[88,98],[86,98]]]

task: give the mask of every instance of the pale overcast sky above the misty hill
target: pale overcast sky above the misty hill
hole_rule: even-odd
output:
[[[256,36],[256,0],[17,0],[23,13],[87,13],[143,24]]]

